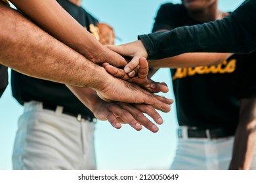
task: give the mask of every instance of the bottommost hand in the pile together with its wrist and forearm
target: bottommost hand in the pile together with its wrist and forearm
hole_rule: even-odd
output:
[[[96,95],[96,92],[88,88],[68,86],[75,96],[89,108],[98,120],[108,120],[113,127],[121,128],[121,124],[129,124],[136,130],[142,126],[156,133],[158,127],[150,122],[143,113],[148,114],[157,124],[163,120],[156,110],[149,105],[131,105],[127,103],[106,102]]]

